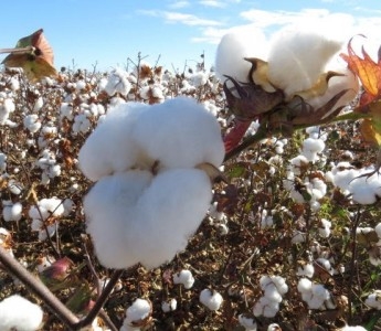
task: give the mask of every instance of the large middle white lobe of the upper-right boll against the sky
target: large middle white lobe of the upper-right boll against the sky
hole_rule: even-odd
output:
[[[341,43],[311,31],[282,29],[273,36],[268,54],[268,78],[286,96],[317,83]]]

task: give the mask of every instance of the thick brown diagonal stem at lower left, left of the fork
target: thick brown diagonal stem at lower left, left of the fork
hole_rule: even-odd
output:
[[[73,325],[78,323],[78,318],[70,311],[40,279],[30,274],[17,259],[11,257],[1,245],[0,263],[7,271],[17,277],[31,291],[40,297],[50,310],[70,328],[68,330],[76,330]]]

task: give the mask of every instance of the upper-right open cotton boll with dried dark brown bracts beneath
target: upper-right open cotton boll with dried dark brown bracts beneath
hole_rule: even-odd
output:
[[[258,55],[262,47],[257,43],[239,40],[232,32],[224,35],[215,61],[227,106],[234,114],[234,126],[224,137],[227,152],[240,150],[241,138],[254,120],[263,126],[253,138],[245,139],[247,145],[265,137],[268,129],[289,136],[296,128],[329,121],[359,93],[357,76],[340,58],[343,44],[328,34],[285,26],[268,43],[261,42],[266,50],[263,56]],[[234,45],[236,52],[232,54],[227,45]],[[251,46],[256,51],[248,50]],[[292,74],[285,70],[289,67]],[[309,152],[311,161],[318,156],[316,148],[315,143]]]

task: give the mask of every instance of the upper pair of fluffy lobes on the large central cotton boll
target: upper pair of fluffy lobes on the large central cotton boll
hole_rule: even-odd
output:
[[[102,156],[102,157],[99,157]],[[215,117],[187,97],[114,108],[82,147],[80,168],[93,181],[131,168],[191,168],[224,157]]]

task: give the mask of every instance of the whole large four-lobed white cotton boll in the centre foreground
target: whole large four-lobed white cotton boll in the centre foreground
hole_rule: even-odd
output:
[[[215,117],[193,99],[109,109],[78,157],[96,181],[84,210],[99,261],[155,268],[184,249],[212,200],[207,172],[223,156]]]

